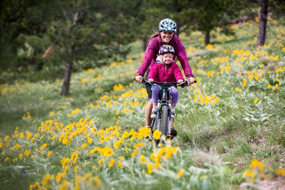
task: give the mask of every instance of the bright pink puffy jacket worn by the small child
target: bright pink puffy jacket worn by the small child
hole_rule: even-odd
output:
[[[156,61],[156,64],[152,66],[148,73],[147,79],[150,78],[158,82],[174,82],[175,79],[176,81],[179,79],[184,80],[182,72],[176,63],[172,62],[171,64],[164,65],[158,61]]]

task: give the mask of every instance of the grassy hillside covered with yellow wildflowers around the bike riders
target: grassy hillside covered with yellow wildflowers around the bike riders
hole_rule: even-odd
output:
[[[181,34],[197,83],[179,89],[178,136],[163,147],[142,128],[140,42],[124,62],[73,74],[68,97],[62,80],[1,85],[1,187],[239,189],[284,179],[284,26],[270,20],[260,48],[258,21],[233,29],[217,28],[207,46],[200,32]]]

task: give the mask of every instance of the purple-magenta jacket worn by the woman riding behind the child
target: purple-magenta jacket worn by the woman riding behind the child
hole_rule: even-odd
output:
[[[146,72],[146,70],[148,69],[150,70],[152,68],[152,66],[155,64],[159,48],[162,45],[163,44],[162,44],[160,36],[156,36],[150,40],[146,48],[144,57],[143,57],[143,62],[141,66],[139,67],[136,75],[144,76],[144,73]],[[177,55],[178,60],[180,61],[180,64],[184,70],[185,76],[187,78],[190,78],[190,77],[194,78],[192,74],[192,70],[187,60],[185,47],[182,44],[181,40],[176,35],[174,35],[173,38],[170,40],[169,45],[174,48],[175,50],[174,61]]]

